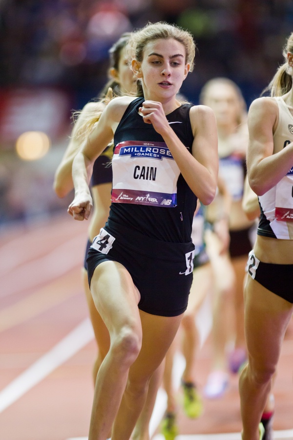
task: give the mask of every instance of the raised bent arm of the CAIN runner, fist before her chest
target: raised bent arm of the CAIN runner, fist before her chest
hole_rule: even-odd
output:
[[[218,138],[214,113],[205,106],[190,109],[190,121],[194,134],[192,155],[171,129],[162,105],[145,101],[142,113],[146,123],[163,136],[183,177],[193,193],[204,205],[214,198],[218,176]]]

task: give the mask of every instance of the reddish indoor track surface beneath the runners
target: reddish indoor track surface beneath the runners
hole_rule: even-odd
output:
[[[0,230],[0,439],[86,440],[96,355],[81,267],[87,223],[66,213]],[[202,348],[196,364],[199,391],[210,367],[210,313],[197,320]],[[174,383],[184,361],[177,352]],[[274,393],[274,439],[293,439],[293,327],[283,343]],[[166,408],[160,389],[151,436],[164,440],[159,423]],[[226,394],[204,399],[204,413],[188,419],[179,403],[178,440],[240,440],[238,376]]]

